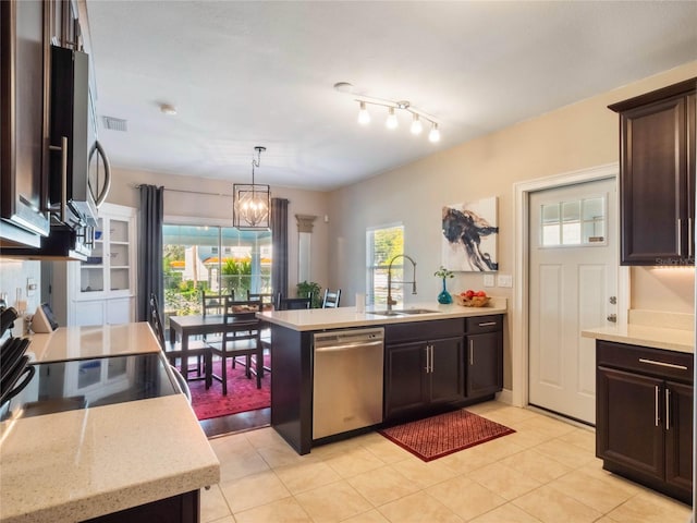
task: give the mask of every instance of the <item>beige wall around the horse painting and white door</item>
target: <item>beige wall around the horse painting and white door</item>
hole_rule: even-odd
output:
[[[419,300],[433,300],[439,280],[440,214],[443,204],[499,197],[499,270],[514,269],[514,191],[517,182],[619,161],[619,120],[610,104],[697,76],[697,62],[635,84],[582,100],[467,142],[380,177],[344,187],[330,196],[329,278],[341,287],[346,304],[365,288],[367,227],[402,222],[404,250],[417,264]],[[443,133],[448,130],[443,129]],[[405,137],[406,139],[406,137]],[[634,268],[632,307],[694,309],[694,269],[669,271]],[[517,282],[514,282],[514,285]],[[482,288],[482,276],[458,273],[449,283],[456,291]],[[511,289],[491,294],[511,297]],[[504,382],[511,388],[511,315],[508,318]]]

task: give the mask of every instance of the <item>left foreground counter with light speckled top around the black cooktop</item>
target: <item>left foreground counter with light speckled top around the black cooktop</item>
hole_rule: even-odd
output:
[[[219,482],[220,463],[149,326],[68,327],[32,338],[36,378],[50,364],[65,369],[65,392],[85,376],[98,379],[82,387],[77,409],[26,417],[21,403],[10,405],[0,423],[0,521],[199,521],[198,491]],[[146,365],[134,364],[143,358]],[[68,364],[83,364],[82,378],[70,379]],[[154,366],[161,389],[136,401],[118,397],[120,370],[125,380]],[[103,387],[112,387],[109,396]],[[38,388],[29,384],[20,396],[35,400]]]

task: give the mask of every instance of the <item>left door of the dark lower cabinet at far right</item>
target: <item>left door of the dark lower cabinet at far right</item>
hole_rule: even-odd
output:
[[[598,458],[662,479],[663,381],[606,367],[596,376]]]

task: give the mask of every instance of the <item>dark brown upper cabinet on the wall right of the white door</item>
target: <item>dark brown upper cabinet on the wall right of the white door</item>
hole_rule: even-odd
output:
[[[696,85],[609,106],[620,113],[622,265],[695,263]]]

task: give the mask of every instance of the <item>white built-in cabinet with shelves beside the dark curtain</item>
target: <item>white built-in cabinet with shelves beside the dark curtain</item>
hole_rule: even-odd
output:
[[[53,308],[60,325],[135,321],[136,216],[132,207],[103,204],[91,255],[86,262],[56,264]],[[60,295],[63,288],[64,299]]]

